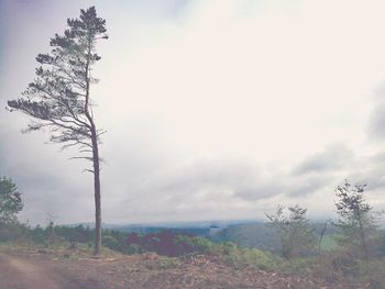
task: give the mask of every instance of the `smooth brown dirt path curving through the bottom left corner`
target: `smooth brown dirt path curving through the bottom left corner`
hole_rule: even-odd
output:
[[[0,288],[61,289],[48,268],[25,258],[0,253]]]

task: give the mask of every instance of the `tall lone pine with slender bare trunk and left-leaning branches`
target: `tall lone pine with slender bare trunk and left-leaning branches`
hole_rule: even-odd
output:
[[[22,93],[22,98],[8,101],[11,111],[23,112],[34,119],[25,131],[46,129],[51,141],[63,144],[63,149],[77,146],[92,163],[87,169],[94,174],[96,229],[95,254],[101,246],[100,158],[98,144],[102,131],[98,130],[92,113],[90,86],[96,82],[91,68],[100,56],[96,43],[107,38],[106,20],[98,18],[95,7],[80,10],[79,19],[68,19],[63,36],[51,40],[50,54],[38,54],[36,79]]]

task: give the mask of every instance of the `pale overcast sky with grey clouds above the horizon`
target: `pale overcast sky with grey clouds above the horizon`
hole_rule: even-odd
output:
[[[91,91],[105,222],[261,219],[278,203],[328,218],[345,178],[385,209],[384,1],[0,0],[0,176],[21,220],[94,220],[88,164],[4,109],[94,4],[110,36]]]

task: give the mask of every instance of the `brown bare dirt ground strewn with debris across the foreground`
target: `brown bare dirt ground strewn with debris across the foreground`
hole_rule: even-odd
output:
[[[92,258],[66,252],[0,249],[0,289],[246,289],[365,288],[315,278],[234,268],[218,258],[162,258],[155,254]]]

